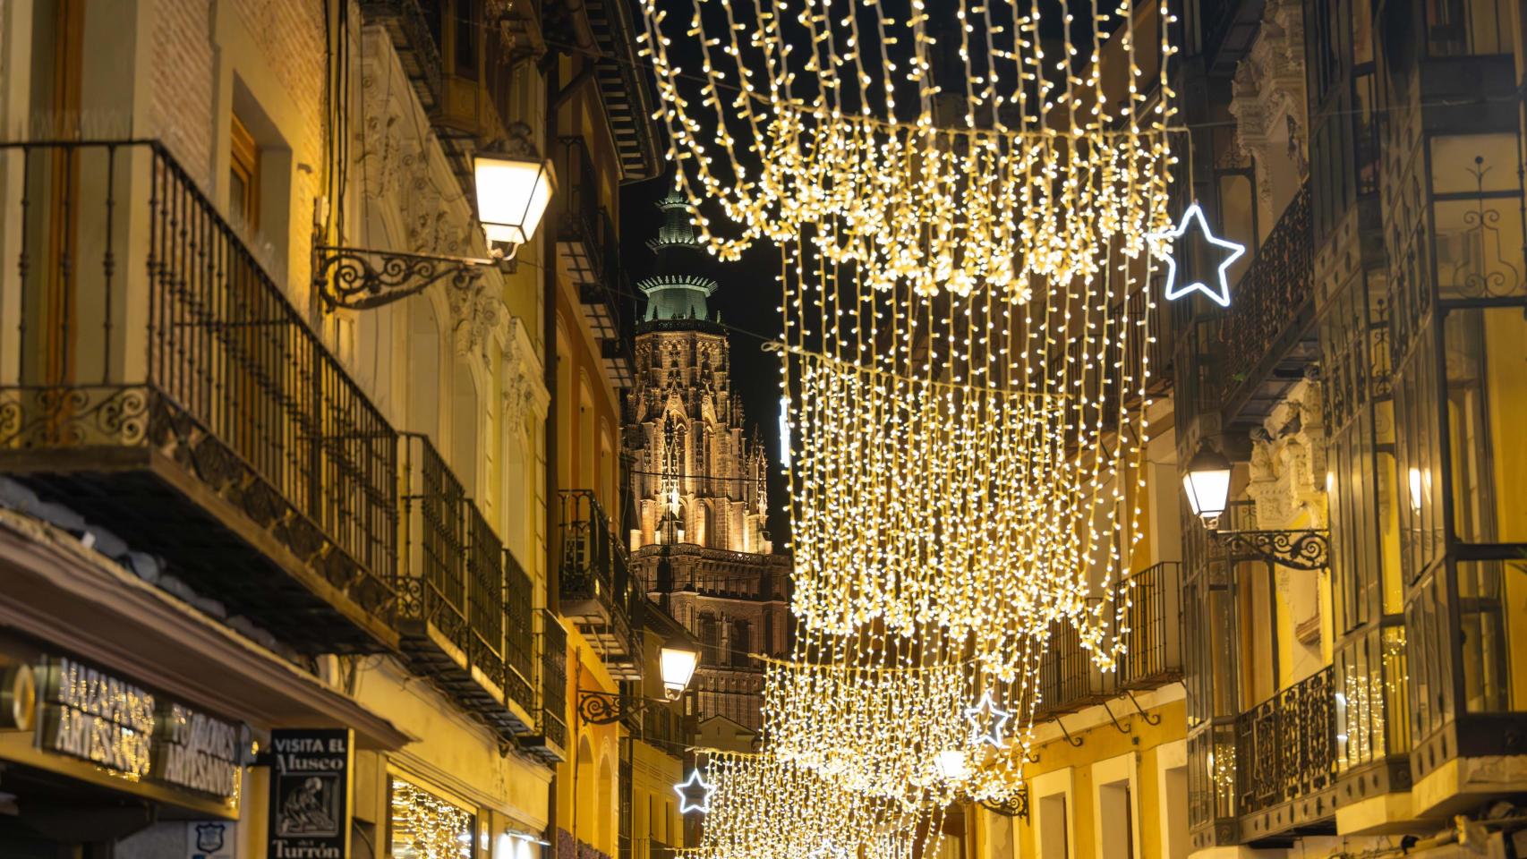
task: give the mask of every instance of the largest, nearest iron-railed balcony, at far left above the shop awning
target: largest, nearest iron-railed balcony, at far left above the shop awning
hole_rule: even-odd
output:
[[[397,648],[399,436],[154,142],[8,143],[0,473],[305,653]]]

